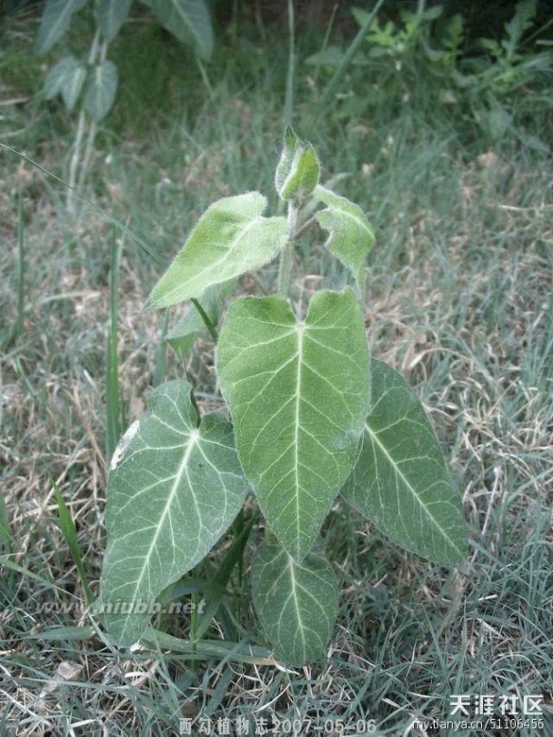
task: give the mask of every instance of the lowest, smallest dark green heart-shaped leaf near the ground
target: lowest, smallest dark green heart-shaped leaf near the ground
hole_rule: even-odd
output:
[[[252,570],[252,598],[267,639],[287,665],[306,665],[325,651],[338,611],[336,576],[324,554],[298,563],[277,542],[264,542]]]

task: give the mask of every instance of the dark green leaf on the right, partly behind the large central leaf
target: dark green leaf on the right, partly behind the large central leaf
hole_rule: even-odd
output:
[[[462,563],[467,532],[426,412],[397,371],[370,363],[373,406],[344,498],[391,540],[445,565]]]

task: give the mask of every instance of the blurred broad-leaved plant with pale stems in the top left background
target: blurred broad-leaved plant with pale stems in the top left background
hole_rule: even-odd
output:
[[[213,29],[206,0],[142,0],[157,20],[184,44],[192,44],[198,56],[208,58],[213,49]],[[109,45],[128,18],[132,0],[46,0],[36,37],[36,51],[45,54],[60,41],[76,14],[88,11],[94,28],[84,56],[68,55],[51,66],[45,76],[46,99],[61,96],[67,112],[78,106],[75,145],[69,169],[68,202],[82,187],[94,146],[97,124],[116,99],[119,76],[107,58]],[[85,153],[82,146],[86,138]],[[77,173],[80,171],[79,179]]]

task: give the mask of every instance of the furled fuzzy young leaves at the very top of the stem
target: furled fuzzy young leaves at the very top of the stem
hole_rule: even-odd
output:
[[[281,199],[301,199],[310,195],[318,184],[320,165],[315,149],[303,143],[290,126],[284,136],[284,147],[275,174],[275,187]]]

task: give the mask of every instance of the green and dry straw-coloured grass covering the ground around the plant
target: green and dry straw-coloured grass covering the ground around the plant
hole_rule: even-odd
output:
[[[27,102],[1,108],[2,137],[65,176],[71,123],[56,106],[33,101],[36,68],[18,71],[18,55],[30,53],[28,26],[14,22],[5,38],[2,96]],[[141,86],[131,79],[113,126],[108,120],[101,132],[88,195],[146,237],[161,261],[217,197],[259,188],[277,206],[272,171],[287,42],[272,43],[261,48],[253,36],[221,53],[206,67],[208,86],[190,66],[186,85],[160,79],[173,85],[170,111],[145,116],[136,98]],[[166,53],[170,60],[175,51]],[[316,129],[311,113],[325,79],[310,85],[302,53],[294,122],[319,150],[325,177],[345,173],[339,187],[372,217],[371,346],[406,375],[432,415],[463,493],[469,559],[459,570],[440,569],[337,505],[324,537],[341,609],[325,661],[287,671],[266,658],[247,576],[237,629],[259,648],[254,662],[225,647],[236,639],[229,615],[236,601],[207,632],[218,649],[196,660],[176,650],[114,650],[85,612],[55,491],[74,520],[96,592],[106,455],[117,432],[112,408],[106,434],[115,297],[126,424],[143,412],[164,366],[168,378],[186,370],[201,400],[216,403],[212,348],[200,340],[186,361],[160,349],[163,316],[140,309],[163,267],[124,233],[114,241],[112,224],[90,207],[67,214],[63,189],[4,151],[0,733],[166,735],[178,733],[180,718],[196,719],[197,731],[200,718],[216,728],[217,719],[244,716],[268,724],[311,719],[327,724],[327,733],[327,720],[341,720],[350,734],[360,731],[358,720],[375,719],[378,734],[397,737],[416,733],[419,718],[447,720],[454,694],[491,694],[496,705],[502,696],[541,694],[541,733],[553,729],[550,116],[537,115],[533,127],[514,127],[490,146],[468,106],[440,102],[437,83],[425,78],[422,86],[423,72],[414,70],[408,96],[405,79],[377,89],[377,76],[368,78],[367,101],[358,93],[337,98]],[[525,146],[529,136],[542,147]],[[345,281],[320,240],[303,244],[299,256],[295,298],[329,278]],[[118,280],[110,272],[116,261]],[[241,289],[260,294],[275,287],[276,276],[269,267],[243,278]],[[113,368],[113,349],[109,356]],[[110,376],[116,396],[113,370]],[[163,624],[169,635],[188,636],[186,617]],[[453,734],[427,731],[437,733]],[[540,732],[522,725],[461,733]]]

